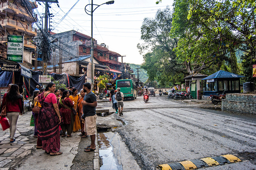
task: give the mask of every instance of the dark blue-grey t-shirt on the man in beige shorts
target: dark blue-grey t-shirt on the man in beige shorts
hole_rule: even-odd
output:
[[[93,103],[97,101],[96,96],[92,91],[90,91],[88,94],[84,96],[84,100],[87,103]],[[83,106],[83,112],[84,112],[84,117],[94,116],[96,115],[96,107],[87,106],[87,105]]]

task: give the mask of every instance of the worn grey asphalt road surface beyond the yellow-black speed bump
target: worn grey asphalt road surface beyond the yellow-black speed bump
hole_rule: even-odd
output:
[[[167,96],[149,99],[125,100],[124,115],[112,114],[125,122],[116,130],[141,169],[225,154],[243,162],[207,169],[256,169],[255,159],[244,156],[256,151],[255,117],[200,109]]]

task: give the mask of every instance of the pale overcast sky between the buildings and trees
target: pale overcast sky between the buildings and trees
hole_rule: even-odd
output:
[[[61,33],[75,30],[91,36],[91,16],[86,14],[84,7],[91,4],[91,0],[59,0],[50,4],[52,17],[52,32]],[[94,0],[100,5],[107,1]],[[42,16],[45,11],[44,3],[38,4],[38,14]],[[77,3],[75,5],[75,3]],[[137,49],[138,43],[143,43],[141,37],[141,25],[144,18],[154,18],[158,9],[164,9],[168,5],[172,9],[172,0],[162,0],[156,5],[156,0],[115,0],[112,5],[101,5],[93,12],[93,38],[97,44],[105,43],[109,50],[119,53],[124,63],[142,64],[143,57]],[[73,5],[75,5],[73,7]],[[65,14],[73,9],[65,16]],[[97,6],[94,5],[93,9]],[[90,5],[86,9],[90,10]],[[36,12],[36,11],[35,11]],[[60,22],[60,20],[65,18]],[[38,16],[39,18],[39,16]],[[41,21],[42,23],[42,21]],[[121,62],[121,57],[119,57]]]

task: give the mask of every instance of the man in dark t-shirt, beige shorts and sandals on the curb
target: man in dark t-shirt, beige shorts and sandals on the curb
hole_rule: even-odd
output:
[[[84,100],[82,101],[83,105],[83,115],[82,119],[84,119],[84,134],[90,135],[91,145],[85,147],[84,152],[92,152],[96,149],[95,147],[95,137],[96,137],[96,106],[97,100],[95,94],[91,91],[91,84],[84,83],[83,90],[86,92],[84,96]]]

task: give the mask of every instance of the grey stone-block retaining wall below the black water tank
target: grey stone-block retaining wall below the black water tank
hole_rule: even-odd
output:
[[[256,115],[256,95],[238,93],[226,94],[226,99],[222,100],[221,110],[231,113]]]

